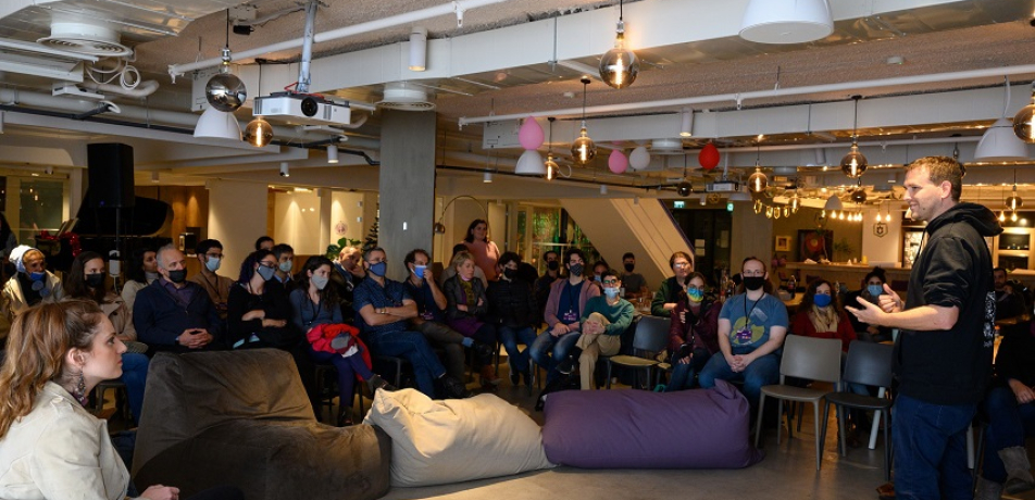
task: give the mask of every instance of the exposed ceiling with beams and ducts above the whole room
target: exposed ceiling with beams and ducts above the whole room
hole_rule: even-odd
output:
[[[62,168],[84,166],[83,154],[75,152],[83,143],[122,140],[137,147],[138,183],[149,182],[152,172],[159,172],[162,183],[201,183],[205,178],[227,177],[274,184],[285,180],[277,175],[278,164],[289,160],[294,168],[291,184],[376,188],[376,167],[360,166],[350,170],[348,176],[341,175],[341,168],[351,168],[344,165],[365,165],[366,161],[360,157],[342,155],[342,166],[328,166],[321,148],[308,153],[276,147],[257,151],[237,145],[221,147],[219,141],[198,141],[176,133],[194,128],[197,118],[190,114],[191,91],[197,84],[191,82],[189,73],[174,84],[167,74],[169,67],[219,57],[227,36],[225,9],[238,3],[235,0],[7,3],[11,4],[0,8],[0,68],[5,70],[0,73],[0,101],[5,110],[0,152],[9,166],[18,164],[15,159],[28,159],[27,166],[41,166],[41,162],[18,152],[18,148],[39,149],[50,142],[68,151],[67,164],[47,159],[57,164],[60,173]],[[441,0],[326,3],[319,10],[317,35],[449,4]],[[847,152],[852,132],[850,96],[860,95],[863,101],[859,136],[863,152],[871,164],[887,166],[872,168],[873,174],[864,177],[872,195],[874,187],[880,191],[888,182],[900,178],[898,166],[911,158],[949,154],[958,148],[960,158],[970,161],[976,138],[1001,115],[1002,76],[992,72],[981,77],[909,85],[872,88],[860,85],[858,89],[757,97],[743,102],[728,96],[1035,64],[1032,24],[1035,0],[830,0],[830,3],[836,20],[835,32],[830,37],[810,43],[771,46],[748,42],[736,36],[747,0],[626,2],[628,39],[643,60],[644,68],[636,83],[626,89],[612,89],[599,79],[588,86],[585,98],[591,110],[589,128],[595,139],[599,138],[601,152],[590,167],[572,170],[572,179],[583,180],[569,184],[573,192],[595,195],[596,183],[619,187],[612,189],[612,193],[643,192],[645,188],[677,182],[685,163],[690,166],[688,175],[701,179],[702,172],[695,168],[696,153],[709,140],[724,150],[732,148],[724,159],[734,168],[753,170],[760,159],[763,166],[799,166],[801,185],[811,183],[810,187],[816,189],[847,186],[846,177],[824,171],[821,165],[834,165],[833,171],[837,171],[837,161]],[[298,10],[299,4],[297,0],[249,2],[259,20],[282,15],[254,26],[248,36],[230,34],[230,49],[235,53],[248,53],[301,37],[304,13]],[[460,193],[476,186],[479,191],[494,193],[490,196],[536,197],[535,186],[545,180],[515,178],[514,183],[508,183],[509,187],[501,183],[473,184],[475,176],[481,178],[482,170],[498,170],[503,174],[512,171],[521,153],[520,148],[484,149],[483,126],[477,118],[556,115],[554,141],[544,145],[540,151],[545,155],[547,149],[552,148],[557,155],[566,155],[577,118],[577,111],[571,111],[583,102],[583,86],[578,83],[583,75],[581,70],[595,67],[611,43],[616,12],[618,4],[613,1],[510,0],[467,10],[462,27],[458,27],[454,15],[438,15],[419,23],[320,42],[313,48],[314,90],[353,102],[374,103],[382,99],[386,84],[408,80],[429,93],[429,101],[438,113],[439,163],[450,167],[439,172],[440,190]],[[2,39],[35,42],[48,37],[52,21],[67,21],[76,13],[88,20],[107,20],[104,25],[119,34],[120,42],[135,50],[130,64],[139,70],[141,79],[154,80],[158,85],[158,91],[146,98],[133,96],[133,91],[123,92],[129,96],[120,96],[117,89],[108,91],[111,90],[108,87],[92,85],[87,75],[83,86],[104,95],[120,105],[122,112],[105,112],[78,123],[108,121],[110,126],[107,127],[70,125],[63,114],[89,112],[100,104],[91,98],[65,96],[55,100],[51,97],[52,86],[62,78],[47,72],[42,76],[29,75],[2,66],[4,61],[13,61],[12,64],[34,63],[59,73],[78,71],[82,74],[79,64],[84,63],[75,58],[2,45]],[[408,72],[404,63],[391,60],[392,55],[404,59],[412,25],[428,30],[426,73]],[[288,49],[236,58],[234,71],[248,84],[250,97],[258,95],[260,86],[262,95],[267,95],[297,79],[299,53],[299,49]],[[389,58],[384,61],[386,54]],[[477,61],[461,60],[459,54]],[[900,58],[905,63],[889,63],[889,58]],[[110,67],[103,62],[99,64],[102,70]],[[93,73],[95,77],[103,75]],[[200,76],[199,80],[203,85],[207,78]],[[1014,83],[1008,107],[1012,114],[1027,102],[1026,85],[1035,79],[1035,71],[1014,72],[1010,79]],[[117,80],[109,85],[114,84]],[[611,149],[628,153],[638,145],[649,145],[651,139],[672,138],[672,134],[657,130],[677,122],[683,105],[619,108],[707,96],[718,98],[693,107],[697,116],[695,137],[679,139],[688,159],[656,154],[645,171],[622,175],[608,171],[607,155]],[[938,96],[944,99],[938,101]],[[948,112],[942,112],[934,104],[945,101],[951,102]],[[609,111],[609,107],[619,108]],[[595,109],[599,111],[593,112]],[[549,113],[551,110],[559,112]],[[342,148],[376,159],[381,113],[366,113],[362,126],[347,130],[349,140]],[[808,117],[802,118],[802,113]],[[353,116],[360,114],[353,111]],[[237,117],[247,122],[250,110],[238,111]],[[461,127],[461,118],[475,122]],[[119,123],[147,123],[152,127],[141,130],[120,127]],[[541,123],[546,127],[546,121]],[[763,137],[760,139],[759,135]],[[295,143],[315,142],[321,137],[327,136],[297,132],[286,125],[278,128],[278,138]],[[184,148],[185,143],[195,146]],[[755,150],[757,146],[760,151]],[[825,162],[819,161],[813,148],[825,151]],[[806,166],[809,164],[814,166]],[[1012,168],[1028,164],[1031,161],[980,165],[983,170],[973,174],[976,168],[972,168],[968,182],[1012,182]],[[734,170],[733,174],[740,172]],[[568,179],[569,183],[572,179]],[[1019,180],[1035,183],[1035,172],[1028,175],[1022,171]],[[622,186],[628,189],[623,191]],[[1035,196],[1035,189],[1031,196]],[[880,195],[874,196],[877,197]]]

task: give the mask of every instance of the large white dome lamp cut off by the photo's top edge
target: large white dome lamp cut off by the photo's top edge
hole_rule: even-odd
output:
[[[751,0],[740,38],[759,43],[805,43],[834,33],[826,0]]]

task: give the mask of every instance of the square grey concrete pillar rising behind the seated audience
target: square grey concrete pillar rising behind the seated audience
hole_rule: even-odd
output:
[[[404,279],[406,253],[431,248],[435,215],[435,113],[385,110],[381,140],[378,246],[388,277]]]

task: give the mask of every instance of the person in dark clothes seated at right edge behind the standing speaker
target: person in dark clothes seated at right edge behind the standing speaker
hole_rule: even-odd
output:
[[[1035,436],[1035,336],[1012,332],[1002,337],[996,355],[996,378],[982,403],[985,460],[976,500],[998,500],[1035,489],[1026,438]]]

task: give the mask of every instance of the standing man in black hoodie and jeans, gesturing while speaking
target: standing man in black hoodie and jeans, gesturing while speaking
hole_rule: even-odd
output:
[[[906,302],[885,284],[878,305],[849,308],[863,323],[900,329],[891,411],[900,500],[973,498],[964,442],[992,374],[996,314],[984,238],[1002,228],[987,208],[960,202],[962,178],[946,157],[906,167],[906,201],[927,222]]]

